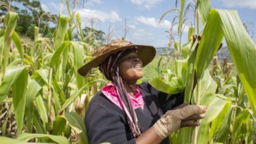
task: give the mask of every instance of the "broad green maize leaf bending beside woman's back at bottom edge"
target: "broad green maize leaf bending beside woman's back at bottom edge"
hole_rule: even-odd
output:
[[[85,124],[83,122],[83,119],[77,115],[77,113],[71,112],[71,113],[66,113],[64,116],[68,122],[68,124],[75,130],[80,135],[80,143],[81,144],[87,144],[87,136],[86,136],[86,129],[85,129]]]

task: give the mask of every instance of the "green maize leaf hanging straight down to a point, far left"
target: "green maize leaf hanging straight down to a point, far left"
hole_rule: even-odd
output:
[[[12,102],[14,105],[18,134],[21,134],[24,124],[27,85],[28,67],[25,67],[18,79],[16,79],[12,85]]]

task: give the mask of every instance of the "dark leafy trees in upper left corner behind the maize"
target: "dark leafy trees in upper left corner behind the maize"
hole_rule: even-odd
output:
[[[3,0],[0,2],[0,5],[9,5],[9,1]],[[54,21],[56,16],[45,12],[39,1],[12,0],[10,8],[0,7],[0,16],[7,15],[9,9],[19,14],[15,30],[20,35],[25,35],[33,39],[34,26],[39,27],[39,32],[42,33],[44,37],[53,35],[54,27],[56,26],[56,22]],[[50,23],[53,27],[49,26]]]

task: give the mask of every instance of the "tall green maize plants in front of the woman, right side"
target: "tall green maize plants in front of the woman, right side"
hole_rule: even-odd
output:
[[[181,0],[179,9],[179,35],[184,25],[185,2]],[[195,1],[194,6],[196,29],[202,39],[198,37],[193,43],[195,26],[190,27],[188,42],[183,46],[179,43],[175,48],[178,57],[173,71],[161,73],[150,84],[169,94],[185,89],[184,103],[207,105],[209,109],[199,128],[182,128],[170,138],[173,143],[253,143],[256,116],[255,43],[235,10],[211,9],[209,0]],[[200,21],[203,27],[200,27]],[[213,75],[218,66],[210,63],[223,39],[237,77],[229,75],[231,65],[229,72],[220,71],[219,75]],[[213,69],[213,73],[209,69]]]

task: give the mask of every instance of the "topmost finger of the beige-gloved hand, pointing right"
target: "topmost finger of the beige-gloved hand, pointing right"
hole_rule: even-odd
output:
[[[207,111],[207,107],[204,105],[187,105],[181,109],[181,115],[184,118],[192,115],[200,115]]]

